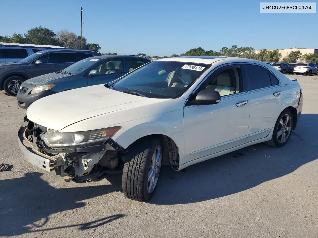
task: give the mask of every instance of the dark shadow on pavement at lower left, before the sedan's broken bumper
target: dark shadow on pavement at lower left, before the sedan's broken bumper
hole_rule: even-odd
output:
[[[45,224],[57,222],[50,215],[68,210],[71,213],[73,209],[86,206],[86,202],[79,201],[121,191],[121,182],[118,176],[112,176],[115,180],[112,185],[90,186],[93,183],[86,183],[75,185],[75,188],[54,188],[41,179],[41,175],[43,174],[37,172],[26,173],[21,178],[0,181],[0,237],[68,227],[85,230],[102,226],[124,216],[116,214],[86,223],[46,228]],[[37,224],[39,221],[41,225]]]

